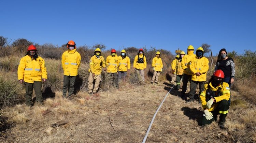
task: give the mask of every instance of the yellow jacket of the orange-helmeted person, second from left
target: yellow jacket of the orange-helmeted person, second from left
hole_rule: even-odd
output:
[[[81,55],[76,49],[67,50],[62,54],[61,64],[65,76],[77,76],[80,63]]]

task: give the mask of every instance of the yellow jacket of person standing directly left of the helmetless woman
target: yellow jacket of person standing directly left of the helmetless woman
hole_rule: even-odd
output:
[[[190,61],[190,71],[192,73],[191,80],[194,81],[206,81],[206,74],[209,69],[209,60],[205,57],[197,58],[194,57]],[[199,72],[201,75],[196,76],[195,74]]]

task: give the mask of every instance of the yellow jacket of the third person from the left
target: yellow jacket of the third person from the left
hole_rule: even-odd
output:
[[[106,67],[106,63],[103,56],[97,58],[96,55],[93,55],[93,57],[91,57],[90,59],[90,68],[88,72],[91,72],[95,75],[100,75],[102,72],[102,67]]]

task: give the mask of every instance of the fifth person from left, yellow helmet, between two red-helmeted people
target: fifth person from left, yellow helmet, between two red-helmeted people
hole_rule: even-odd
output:
[[[121,51],[119,58],[119,65],[118,65],[118,80],[121,79],[126,81],[127,72],[130,70],[131,63],[130,58],[126,55],[125,50]]]

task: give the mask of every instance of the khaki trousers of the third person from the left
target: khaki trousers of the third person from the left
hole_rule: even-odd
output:
[[[93,73],[90,72],[89,77],[88,77],[88,93],[97,93],[99,86],[100,86],[100,81],[101,81],[101,75],[95,75],[96,79],[93,78]],[[93,88],[93,81],[95,80],[95,85]]]

